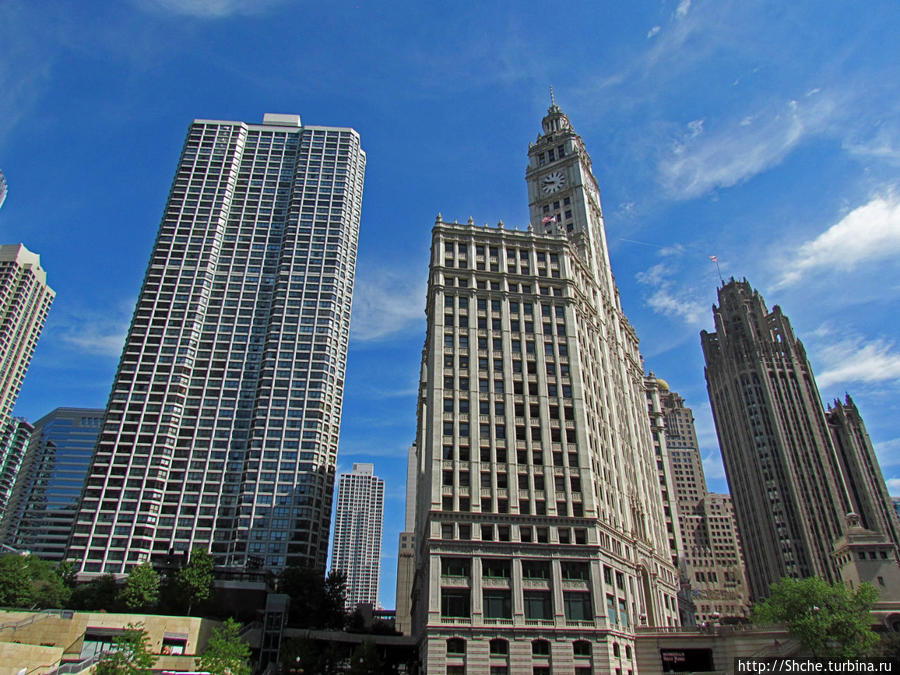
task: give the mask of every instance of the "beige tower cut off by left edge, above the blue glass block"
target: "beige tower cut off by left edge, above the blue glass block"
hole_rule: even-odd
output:
[[[37,253],[0,246],[0,420],[12,414],[55,295]]]

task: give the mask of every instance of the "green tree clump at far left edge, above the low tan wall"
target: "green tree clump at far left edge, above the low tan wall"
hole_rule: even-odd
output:
[[[69,588],[49,562],[33,555],[0,556],[0,606],[63,607],[69,596]]]

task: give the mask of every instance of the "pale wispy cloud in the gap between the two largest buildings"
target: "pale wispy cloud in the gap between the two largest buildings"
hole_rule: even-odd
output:
[[[379,340],[421,327],[425,292],[424,279],[387,269],[361,269],[353,299],[353,338]]]

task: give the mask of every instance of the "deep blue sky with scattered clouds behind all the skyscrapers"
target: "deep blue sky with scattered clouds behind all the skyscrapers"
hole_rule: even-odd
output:
[[[627,5],[627,7],[626,7]],[[299,113],[368,153],[339,463],[386,480],[394,606],[430,230],[524,227],[548,85],[593,158],[648,370],[726,491],[698,332],[747,277],[850,392],[900,494],[900,5],[680,0],[0,3],[0,239],[57,299],[16,413],[103,407],[194,118]]]

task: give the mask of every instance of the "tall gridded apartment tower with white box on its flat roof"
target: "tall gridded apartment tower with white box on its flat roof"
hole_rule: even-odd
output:
[[[365,153],[353,129],[195,120],[68,555],[193,547],[324,572]]]

